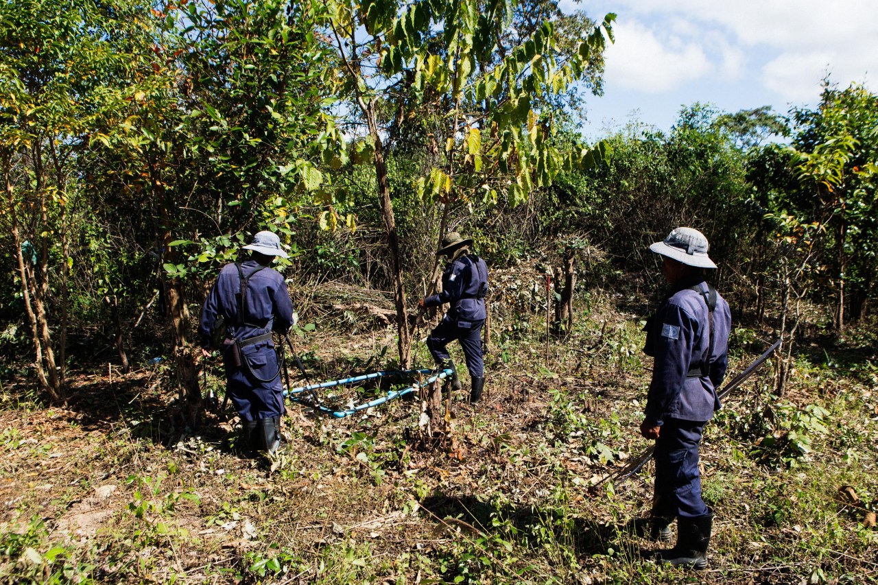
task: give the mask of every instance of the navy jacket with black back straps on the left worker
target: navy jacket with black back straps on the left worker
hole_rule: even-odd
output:
[[[211,293],[207,295],[205,306],[201,309],[201,323],[198,333],[201,347],[209,349],[213,322],[219,314],[227,325],[227,335],[244,340],[271,330],[286,333],[292,325],[292,301],[287,291],[284,277],[280,272],[266,266],[256,271],[260,264],[255,260],[241,263],[244,277],[249,279],[247,287],[247,314],[242,321],[249,323],[236,327],[238,321],[238,295],[241,292],[241,278],[234,264],[226,264],[219,271]]]

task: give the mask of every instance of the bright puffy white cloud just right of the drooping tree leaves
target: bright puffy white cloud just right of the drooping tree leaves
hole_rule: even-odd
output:
[[[615,44],[607,50],[608,82],[629,90],[659,93],[704,76],[709,59],[697,43],[675,35],[659,39],[637,22],[615,26]]]

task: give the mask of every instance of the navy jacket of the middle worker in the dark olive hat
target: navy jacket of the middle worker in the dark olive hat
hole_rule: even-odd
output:
[[[425,307],[450,303],[445,318],[468,327],[485,321],[485,295],[488,292],[488,267],[485,261],[470,254],[451,262],[442,275],[442,293],[424,299]]]

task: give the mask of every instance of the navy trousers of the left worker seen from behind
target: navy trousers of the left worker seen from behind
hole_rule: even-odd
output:
[[[223,363],[226,366],[226,392],[232,399],[235,410],[242,421],[258,421],[284,415],[284,386],[280,373],[269,382],[267,379],[277,372],[277,353],[268,343],[255,343],[241,348],[241,367],[234,365],[227,346],[223,349]],[[247,360],[248,366],[243,364]]]

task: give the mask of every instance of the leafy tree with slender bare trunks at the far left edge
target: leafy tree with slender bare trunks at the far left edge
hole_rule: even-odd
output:
[[[0,5],[0,163],[4,221],[18,264],[40,386],[63,398],[76,163],[132,84],[126,42],[137,4],[63,0]],[[60,278],[54,285],[53,279]],[[60,348],[49,314],[60,291]],[[58,354],[56,356],[56,354]]]

